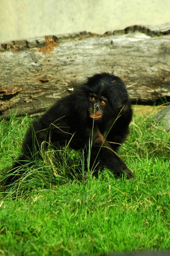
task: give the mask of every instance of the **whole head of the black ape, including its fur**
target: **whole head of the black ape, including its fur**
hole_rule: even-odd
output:
[[[85,95],[87,98],[84,98]],[[82,85],[80,99],[83,99],[82,102],[76,102],[76,106],[83,106],[84,117],[87,111],[92,121],[108,123],[114,121],[121,108],[127,105],[128,94],[119,77],[103,73],[90,77],[88,82]]]

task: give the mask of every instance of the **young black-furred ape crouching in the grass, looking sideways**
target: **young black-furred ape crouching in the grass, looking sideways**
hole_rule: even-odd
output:
[[[89,137],[93,136],[91,166],[97,165],[97,170],[107,167],[117,176],[126,173],[130,179],[133,172],[114,152],[125,140],[131,119],[132,109],[122,80],[108,73],[94,75],[33,122],[25,136],[22,156],[13,168],[31,161],[44,140],[62,146],[72,138],[70,147],[80,150],[89,147]],[[7,182],[17,178],[10,176]]]

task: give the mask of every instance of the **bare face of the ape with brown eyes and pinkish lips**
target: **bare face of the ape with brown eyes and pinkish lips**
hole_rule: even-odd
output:
[[[102,118],[103,110],[107,105],[107,99],[104,96],[95,93],[89,93],[89,116],[94,121]]]

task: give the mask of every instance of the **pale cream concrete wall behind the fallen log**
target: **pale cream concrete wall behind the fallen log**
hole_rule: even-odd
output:
[[[169,0],[0,0],[0,42],[166,22]]]

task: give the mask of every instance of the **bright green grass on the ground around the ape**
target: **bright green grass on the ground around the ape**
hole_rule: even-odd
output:
[[[1,180],[30,121],[12,116],[0,123]],[[1,192],[0,255],[169,249],[168,133],[149,115],[135,117],[130,130],[119,155],[134,180],[115,179],[107,170],[95,179],[82,172],[79,153],[49,148],[22,181]]]

